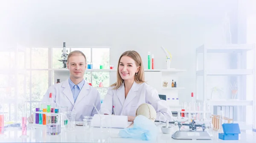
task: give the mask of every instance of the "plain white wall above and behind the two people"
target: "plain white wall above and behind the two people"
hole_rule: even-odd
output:
[[[146,65],[165,68],[163,45],[172,67],[186,69],[179,79],[195,92],[195,48],[222,42],[221,22],[234,0],[26,0],[0,2],[0,42],[29,47],[111,46],[111,64],[125,50],[137,50]],[[186,99],[181,99],[181,101]]]

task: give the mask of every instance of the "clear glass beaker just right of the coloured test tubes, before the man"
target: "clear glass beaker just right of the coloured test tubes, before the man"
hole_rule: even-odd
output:
[[[64,112],[64,126],[65,129],[73,131],[76,126],[76,112]]]

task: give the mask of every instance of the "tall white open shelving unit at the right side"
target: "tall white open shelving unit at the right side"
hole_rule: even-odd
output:
[[[251,62],[247,61],[248,54],[253,55],[249,59]],[[226,115],[233,116],[228,118],[252,123],[251,112],[256,96],[255,66],[254,44],[201,45],[196,48],[197,101],[208,102],[213,114],[232,107],[232,113],[224,111]],[[216,89],[221,89],[217,93],[219,97],[214,95]]]

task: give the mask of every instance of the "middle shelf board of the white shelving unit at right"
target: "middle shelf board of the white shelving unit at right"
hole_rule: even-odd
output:
[[[251,75],[253,70],[251,69],[228,69],[228,70],[209,70],[207,71],[207,76],[242,76]],[[196,71],[197,76],[204,76],[204,70]]]

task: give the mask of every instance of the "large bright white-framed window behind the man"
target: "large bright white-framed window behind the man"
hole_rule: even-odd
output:
[[[68,53],[81,50],[87,57],[87,62],[93,62],[93,69],[99,69],[99,65],[103,65],[104,69],[109,69],[109,47],[71,47],[67,50]],[[4,104],[4,112],[7,112],[5,121],[21,120],[21,103],[17,101],[17,98],[24,98],[27,101],[28,116],[35,110],[36,104],[42,100],[48,87],[55,83],[55,70],[62,67],[62,62],[58,61],[61,59],[61,54],[62,48],[25,48],[18,52],[15,49],[0,51],[0,60],[5,61],[9,67],[8,70],[0,67],[2,79],[0,97],[6,99],[9,97],[9,102]],[[49,64],[49,57],[52,59],[52,64]],[[69,76],[68,72],[67,76]],[[84,73],[84,79],[91,82],[94,87],[98,87],[100,82],[104,87],[110,85],[109,72],[87,70]],[[107,88],[98,87],[97,89],[103,99]]]

